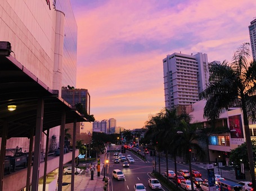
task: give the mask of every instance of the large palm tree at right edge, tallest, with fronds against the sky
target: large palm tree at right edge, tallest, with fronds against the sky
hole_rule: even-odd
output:
[[[228,106],[240,99],[246,146],[248,151],[251,182],[256,189],[253,149],[250,139],[249,120],[256,122],[256,61],[250,61],[249,43],[242,44],[233,55],[233,62],[226,60],[210,68],[209,85],[201,92],[200,98],[206,99],[204,117],[218,119]],[[214,79],[218,79],[215,80]]]

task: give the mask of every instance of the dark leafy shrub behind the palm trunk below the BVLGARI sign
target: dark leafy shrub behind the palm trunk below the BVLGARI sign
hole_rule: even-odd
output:
[[[253,145],[253,153],[254,153],[254,157],[255,157],[256,141],[252,140],[251,143]],[[233,164],[235,164],[235,165],[240,165],[241,164],[240,160],[242,160],[242,163],[244,163],[244,167],[246,169],[249,169],[249,160],[248,160],[248,152],[247,152],[246,143],[242,143],[242,145],[239,145],[238,147],[236,147],[235,149],[230,151],[230,162],[233,162]],[[254,159],[254,161],[255,161],[255,159]],[[254,162],[254,167],[256,167],[255,162]]]

